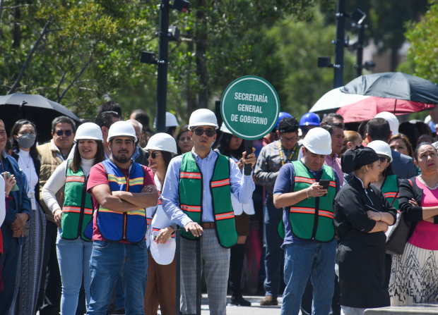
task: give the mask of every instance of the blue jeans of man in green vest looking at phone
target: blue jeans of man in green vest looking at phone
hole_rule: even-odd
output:
[[[312,280],[313,315],[328,315],[335,283],[336,240],[309,245],[286,245],[282,315],[297,315],[307,279]]]

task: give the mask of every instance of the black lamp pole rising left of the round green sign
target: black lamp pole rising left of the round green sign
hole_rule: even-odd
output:
[[[166,131],[167,65],[169,58],[169,0],[161,0],[158,33],[157,123],[156,132]]]

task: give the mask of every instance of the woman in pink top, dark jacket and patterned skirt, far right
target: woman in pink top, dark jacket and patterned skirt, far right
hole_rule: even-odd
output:
[[[415,149],[421,175],[400,185],[400,210],[412,222],[402,255],[392,260],[391,305],[435,302],[438,297],[438,156],[429,142]]]

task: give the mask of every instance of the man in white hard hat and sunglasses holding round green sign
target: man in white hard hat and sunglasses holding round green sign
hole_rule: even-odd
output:
[[[211,149],[218,121],[213,111],[198,109],[190,116],[194,148],[170,161],[162,190],[167,216],[184,227],[181,240],[181,297],[183,314],[196,312],[196,240],[208,288],[210,314],[226,314],[230,247],[237,243],[231,194],[245,204],[254,191],[251,175],[242,175],[234,161]],[[243,161],[254,166],[253,153]]]

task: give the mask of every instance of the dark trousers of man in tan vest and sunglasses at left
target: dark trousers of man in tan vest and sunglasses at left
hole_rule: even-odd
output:
[[[59,314],[61,309],[61,274],[57,259],[58,226],[47,221],[44,258],[37,309],[40,315]]]

